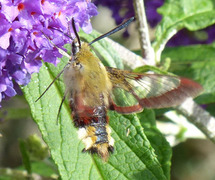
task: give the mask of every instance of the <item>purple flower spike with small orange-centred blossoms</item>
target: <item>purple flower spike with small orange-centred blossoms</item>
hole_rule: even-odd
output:
[[[97,9],[90,0],[0,0],[0,103],[17,94],[17,84],[29,83],[41,59],[54,65],[59,62],[61,54],[43,33],[63,48],[71,40],[54,29],[67,33],[74,18],[77,28],[90,33],[90,18],[95,15]]]

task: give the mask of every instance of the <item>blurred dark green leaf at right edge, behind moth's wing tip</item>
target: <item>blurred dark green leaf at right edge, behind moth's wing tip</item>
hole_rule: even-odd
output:
[[[200,104],[215,102],[215,45],[166,48],[162,59],[171,58],[170,71],[199,82],[204,92],[196,98]]]

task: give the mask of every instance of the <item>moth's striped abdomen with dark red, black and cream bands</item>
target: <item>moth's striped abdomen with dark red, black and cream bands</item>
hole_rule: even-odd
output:
[[[103,160],[107,160],[109,152],[113,152],[114,139],[111,137],[108,125],[106,106],[94,108],[84,107],[75,109],[70,103],[74,124],[78,136],[85,144],[83,152],[97,153]]]

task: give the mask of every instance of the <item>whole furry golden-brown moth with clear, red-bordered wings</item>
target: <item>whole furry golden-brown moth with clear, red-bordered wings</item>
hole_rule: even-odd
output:
[[[91,52],[90,45],[128,26],[133,19],[128,19],[90,43],[81,43],[73,19],[76,40],[72,43],[72,56],[62,53],[70,60],[55,78],[56,80],[64,72],[66,90],[60,107],[68,96],[73,123],[85,145],[83,152],[97,153],[104,161],[114,151],[108,110],[129,114],[141,112],[144,108],[175,106],[202,91],[201,85],[190,79],[133,73],[102,64]]]

